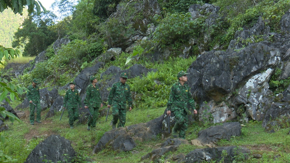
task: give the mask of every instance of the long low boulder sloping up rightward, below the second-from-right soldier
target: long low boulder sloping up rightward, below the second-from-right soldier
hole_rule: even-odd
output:
[[[99,140],[93,153],[98,153],[110,144],[114,144],[113,150],[130,151],[135,146],[135,140],[148,141],[156,138],[156,135],[162,132],[163,115],[147,123],[139,123],[125,128],[117,128],[104,133]]]

